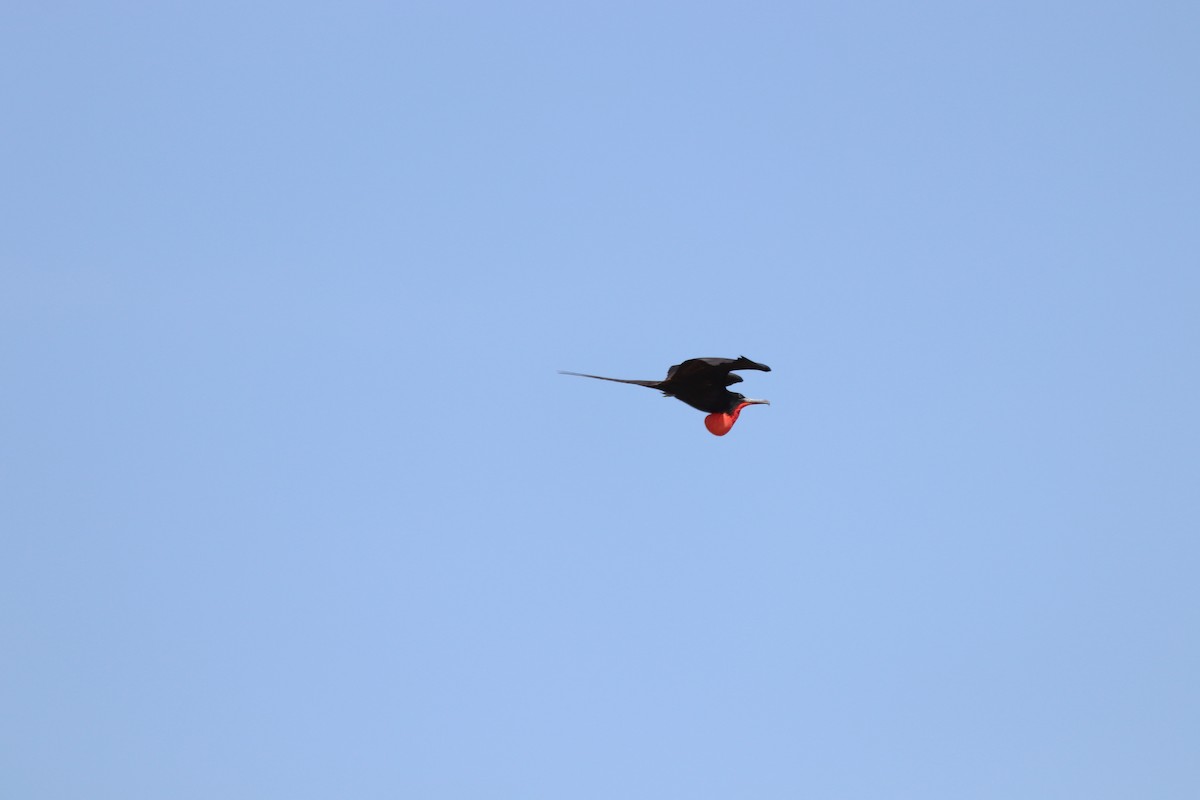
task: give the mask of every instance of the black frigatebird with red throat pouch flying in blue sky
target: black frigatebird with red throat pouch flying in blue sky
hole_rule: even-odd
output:
[[[767,365],[751,361],[743,355],[737,359],[688,359],[667,369],[667,377],[664,380],[605,378],[604,375],[589,375],[583,372],[563,369],[559,369],[559,373],[658,389],[665,397],[674,397],[694,409],[706,411],[708,416],[704,417],[704,427],[713,435],[724,437],[738,421],[742,409],[755,404],[770,405],[770,401],[752,399],[745,395],[731,392],[727,386],[739,384],[743,380],[742,375],[733,374],[734,369],[770,372],[770,367]]]

